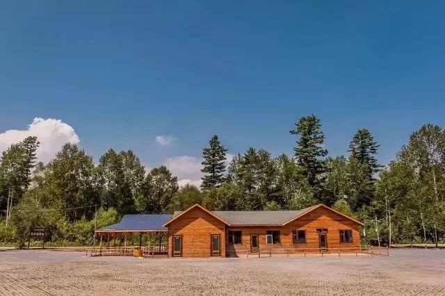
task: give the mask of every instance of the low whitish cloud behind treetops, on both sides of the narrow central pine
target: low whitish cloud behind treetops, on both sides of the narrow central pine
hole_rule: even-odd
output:
[[[226,155],[227,160],[226,165],[232,161],[234,158],[233,154]],[[201,172],[203,159],[201,157],[195,156],[175,156],[167,158],[164,165],[168,167],[168,170],[172,172],[174,176],[178,177],[178,185],[184,186],[187,183],[195,185],[197,187],[201,186],[202,176]]]

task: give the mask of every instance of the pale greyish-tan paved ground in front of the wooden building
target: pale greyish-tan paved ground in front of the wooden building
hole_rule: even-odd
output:
[[[445,295],[445,250],[391,256],[138,259],[0,252],[1,295]]]

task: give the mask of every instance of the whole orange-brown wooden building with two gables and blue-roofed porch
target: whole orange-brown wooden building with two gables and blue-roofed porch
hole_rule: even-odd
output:
[[[133,217],[126,218],[129,216]],[[122,223],[125,220],[128,222]],[[195,204],[173,215],[125,215],[122,221],[96,232],[100,236],[165,233],[168,236],[165,252],[169,257],[245,256],[261,250],[278,253],[357,250],[359,227],[363,225],[323,204],[299,211],[208,211]]]

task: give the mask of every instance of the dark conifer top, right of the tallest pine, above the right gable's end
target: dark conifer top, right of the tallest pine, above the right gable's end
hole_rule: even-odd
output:
[[[366,173],[370,180],[373,179],[373,174],[380,171],[381,167],[375,158],[378,147],[380,145],[375,142],[367,129],[359,129],[349,144],[350,157],[357,159],[366,167]]]

